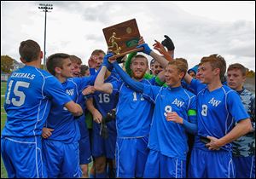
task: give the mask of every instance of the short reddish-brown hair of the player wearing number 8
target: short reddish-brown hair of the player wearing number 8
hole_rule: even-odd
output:
[[[226,72],[226,61],[224,60],[224,57],[218,54],[213,54],[210,56],[205,56],[201,59],[201,64],[210,62],[212,69],[219,68],[219,78],[223,78],[224,74]]]

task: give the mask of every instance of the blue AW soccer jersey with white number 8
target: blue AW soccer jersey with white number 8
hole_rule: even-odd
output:
[[[193,87],[194,85],[191,85]],[[199,136],[214,136],[221,138],[233,129],[235,122],[249,118],[241,99],[236,91],[223,85],[217,90],[209,91],[205,84],[197,84],[197,114],[198,136],[195,137],[195,147],[207,150]],[[231,151],[231,144],[222,147]]]

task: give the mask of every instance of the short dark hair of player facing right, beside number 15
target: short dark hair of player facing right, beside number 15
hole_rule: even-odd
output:
[[[50,74],[55,76],[55,67],[63,67],[63,63],[65,59],[69,58],[70,55],[64,54],[64,53],[57,53],[54,55],[50,55],[47,58],[46,66],[47,70]]]

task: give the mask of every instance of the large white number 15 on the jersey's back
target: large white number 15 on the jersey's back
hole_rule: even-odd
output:
[[[13,105],[15,107],[20,107],[24,104],[25,102],[25,98],[26,98],[26,95],[19,90],[19,87],[25,87],[25,88],[28,88],[29,87],[29,83],[27,82],[20,82],[18,81],[16,84],[15,84],[15,90],[14,90],[14,93],[17,97],[20,97],[19,100],[16,100],[16,98],[12,98],[11,100],[9,99],[9,94],[10,94],[10,90],[12,88],[12,85],[13,85],[14,81],[13,80],[10,80],[9,82],[9,89],[8,89],[8,93],[7,93],[7,96],[6,96],[6,101],[5,103],[6,104],[10,104],[10,102],[13,103]]]

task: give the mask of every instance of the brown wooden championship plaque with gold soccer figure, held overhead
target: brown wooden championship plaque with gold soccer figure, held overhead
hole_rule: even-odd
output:
[[[108,52],[113,53],[113,57],[110,58],[118,59],[126,54],[143,49],[136,48],[140,39],[140,32],[135,19],[108,26],[102,30],[108,44]],[[121,63],[123,61],[118,62]]]

